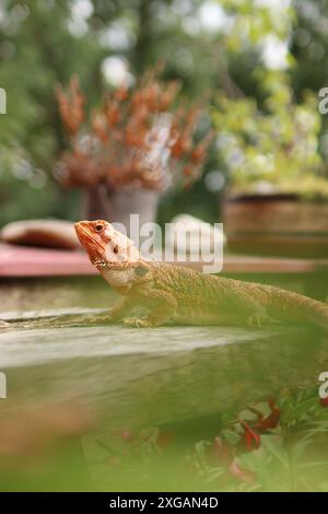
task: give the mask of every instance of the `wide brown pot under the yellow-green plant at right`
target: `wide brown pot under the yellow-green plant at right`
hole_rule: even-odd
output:
[[[328,205],[296,195],[227,197],[223,223],[233,252],[328,257]]]

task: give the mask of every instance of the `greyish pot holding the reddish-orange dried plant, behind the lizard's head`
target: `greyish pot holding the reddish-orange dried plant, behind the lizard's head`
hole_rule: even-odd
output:
[[[129,234],[130,214],[139,214],[140,225],[156,220],[160,192],[153,189],[125,187],[116,191],[99,185],[84,196],[84,217],[122,223]]]

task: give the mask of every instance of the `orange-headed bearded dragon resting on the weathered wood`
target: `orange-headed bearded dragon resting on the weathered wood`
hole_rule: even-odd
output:
[[[243,282],[144,259],[134,244],[103,220],[74,225],[81,245],[124,300],[102,322],[124,318],[132,327],[313,323],[328,330],[328,305],[272,285]],[[148,315],[126,317],[133,307]]]

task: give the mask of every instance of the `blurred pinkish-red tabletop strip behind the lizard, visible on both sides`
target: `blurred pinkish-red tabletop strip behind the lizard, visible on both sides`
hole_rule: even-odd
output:
[[[201,270],[203,262],[176,262]],[[328,271],[328,259],[294,259],[225,255],[224,273],[315,273]],[[79,250],[34,248],[0,244],[0,278],[63,277],[97,273]]]

